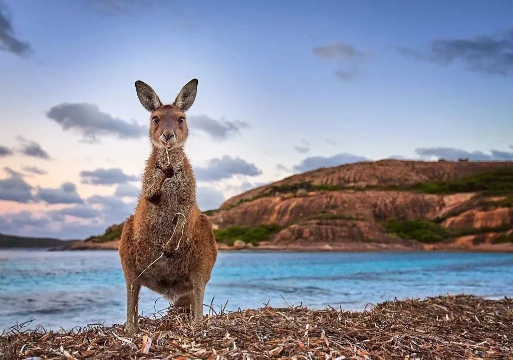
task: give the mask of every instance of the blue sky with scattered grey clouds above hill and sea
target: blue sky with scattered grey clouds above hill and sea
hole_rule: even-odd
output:
[[[383,158],[513,159],[513,2],[0,0],[0,233],[84,238],[135,207],[134,82],[198,78],[202,210]]]

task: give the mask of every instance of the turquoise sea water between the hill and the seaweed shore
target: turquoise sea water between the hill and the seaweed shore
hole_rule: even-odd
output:
[[[220,252],[205,303],[361,310],[394,297],[502,297],[513,295],[512,274],[513,254]],[[140,304],[147,315],[167,307],[148,289]],[[47,329],[124,323],[117,252],[0,250],[0,329],[29,319]]]

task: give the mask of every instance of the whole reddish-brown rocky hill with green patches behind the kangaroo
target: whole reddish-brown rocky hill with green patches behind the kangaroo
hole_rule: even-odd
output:
[[[513,162],[322,168],[205,212],[220,249],[513,251]],[[116,249],[122,225],[71,249]]]

